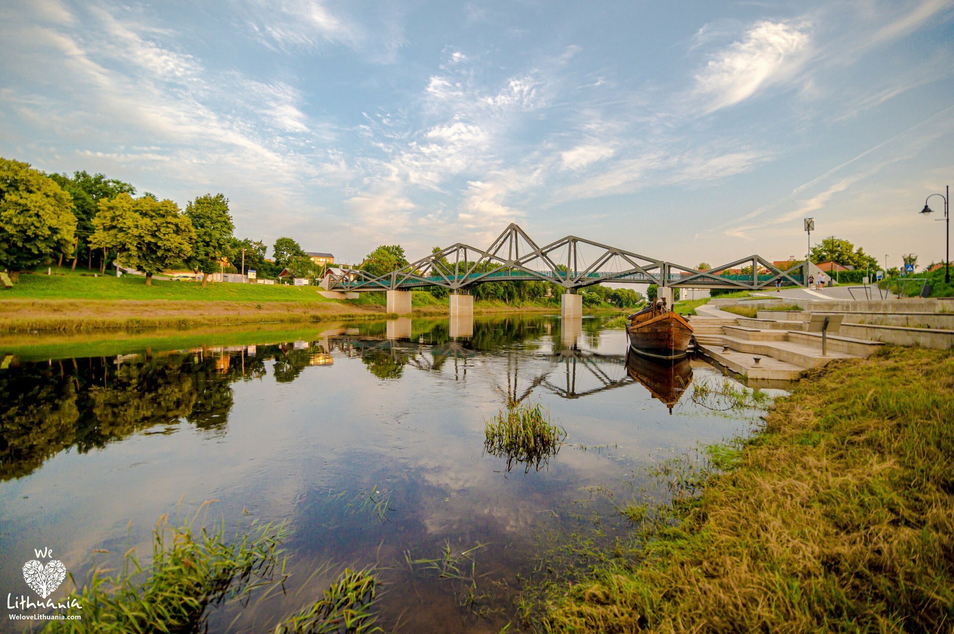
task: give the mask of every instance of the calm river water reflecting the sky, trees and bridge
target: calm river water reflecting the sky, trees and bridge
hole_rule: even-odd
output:
[[[628,369],[625,334],[600,323],[399,319],[270,343],[113,344],[109,356],[21,349],[0,369],[0,594],[27,592],[35,548],[84,579],[94,549],[110,551],[98,561],[128,544],[146,553],[161,514],[217,500],[210,518],[230,527],[288,522],[292,578],[240,614],[217,609],[210,631],[274,626],[343,565],[379,568],[385,629],[496,631],[546,536],[599,522],[612,540],[627,526],[609,495],[622,501],[648,465],[752,424],[696,404],[652,364]],[[695,361],[677,374],[722,381]],[[568,431],[539,470],[508,472],[484,451],[485,421],[508,398],[542,403]],[[383,520],[361,504],[373,491]],[[446,544],[475,548],[477,605],[462,602],[466,583],[406,564]]]

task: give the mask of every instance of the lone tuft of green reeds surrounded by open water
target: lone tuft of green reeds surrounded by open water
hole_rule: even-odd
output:
[[[508,400],[506,410],[487,421],[484,427],[484,449],[491,456],[507,459],[507,471],[514,464],[526,465],[537,471],[543,468],[551,456],[560,451],[567,438],[567,430],[550,422],[549,414],[540,403]]]

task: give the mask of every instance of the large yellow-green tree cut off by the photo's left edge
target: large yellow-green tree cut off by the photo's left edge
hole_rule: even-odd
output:
[[[17,274],[73,250],[73,199],[28,163],[0,158],[0,267]]]

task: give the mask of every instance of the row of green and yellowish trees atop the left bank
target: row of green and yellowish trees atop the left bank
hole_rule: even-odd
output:
[[[135,194],[132,184],[105,174],[44,174],[0,157],[0,269],[15,279],[65,260],[72,270],[85,262],[104,274],[114,261],[141,271],[147,285],[156,274],[184,267],[201,273],[204,286],[219,270],[235,273],[244,256],[245,269],[261,277],[285,268],[294,276],[321,276],[290,237],[275,241],[274,262],[265,259],[260,240],[236,237],[225,194],[199,195],[184,210],[149,192]]]

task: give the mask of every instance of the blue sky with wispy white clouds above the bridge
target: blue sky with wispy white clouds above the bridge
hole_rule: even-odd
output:
[[[4,0],[0,155],[357,262],[510,222],[713,265],[944,258],[954,0]],[[933,198],[931,206],[943,209]]]

